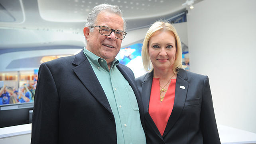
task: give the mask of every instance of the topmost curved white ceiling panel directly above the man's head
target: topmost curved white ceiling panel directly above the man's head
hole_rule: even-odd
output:
[[[47,21],[85,22],[94,6],[118,5],[124,18],[140,19],[164,16],[181,9],[183,0],[38,0],[39,14]],[[183,7],[185,8],[185,7]]]

